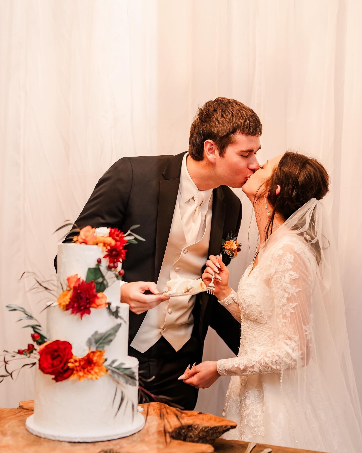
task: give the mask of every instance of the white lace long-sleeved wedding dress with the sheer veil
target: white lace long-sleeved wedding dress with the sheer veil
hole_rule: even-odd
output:
[[[293,217],[293,216],[292,216]],[[362,452],[361,410],[349,355],[343,295],[324,207],[311,200],[273,233],[258,265],[222,304],[241,323],[224,434],[323,452]]]

